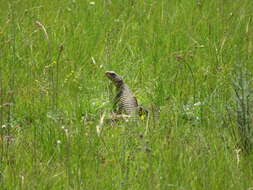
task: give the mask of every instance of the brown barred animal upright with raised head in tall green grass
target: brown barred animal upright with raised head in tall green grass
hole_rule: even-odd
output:
[[[105,75],[116,87],[114,109],[118,106],[117,114],[139,115],[140,117],[148,114],[147,109],[138,105],[136,97],[120,75],[114,71],[106,71]]]

